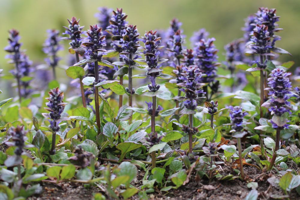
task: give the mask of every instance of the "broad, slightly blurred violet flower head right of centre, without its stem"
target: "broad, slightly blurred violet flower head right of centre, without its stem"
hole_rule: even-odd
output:
[[[207,40],[200,40],[194,48],[195,55],[197,56],[196,64],[200,69],[200,72],[205,73],[206,77],[202,78],[202,82],[214,82],[217,75],[217,61],[218,50],[214,46],[214,38],[208,38]]]

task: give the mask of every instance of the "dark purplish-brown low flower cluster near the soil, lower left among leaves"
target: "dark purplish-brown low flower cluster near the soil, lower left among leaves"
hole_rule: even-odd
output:
[[[91,163],[91,159],[95,158],[94,154],[84,151],[80,146],[76,147],[74,154],[75,155],[68,160],[74,165],[79,165],[82,168],[87,167]]]

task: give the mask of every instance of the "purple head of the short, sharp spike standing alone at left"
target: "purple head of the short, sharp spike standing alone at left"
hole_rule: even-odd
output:
[[[50,128],[57,132],[59,130],[58,124],[61,122],[61,113],[64,111],[64,107],[67,103],[64,103],[62,100],[64,99],[64,93],[59,90],[59,88],[54,88],[50,90],[49,97],[46,98],[49,102],[46,103],[48,108],[45,108],[50,113],[46,115],[46,117],[51,118]]]

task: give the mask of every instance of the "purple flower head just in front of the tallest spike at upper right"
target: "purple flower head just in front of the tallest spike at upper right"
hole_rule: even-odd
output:
[[[268,50],[272,48],[270,43],[270,36],[268,26],[257,24],[253,29],[253,36],[250,41],[252,42],[248,47],[251,49],[247,53],[256,53],[259,55],[268,55]]]

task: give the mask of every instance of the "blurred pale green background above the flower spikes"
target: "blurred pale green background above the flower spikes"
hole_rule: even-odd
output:
[[[193,31],[206,28],[210,37],[216,38],[216,46],[220,50],[220,61],[224,60],[223,46],[230,41],[243,36],[241,27],[244,18],[255,13],[259,7],[276,8],[277,15],[281,16],[279,27],[284,30],[278,35],[282,37],[276,45],[292,53],[293,57],[281,55],[280,61],[295,61],[295,66],[300,65],[299,57],[299,32],[300,32],[300,1],[298,0],[1,0],[0,1],[0,49],[7,45],[7,31],[11,28],[19,30],[22,49],[27,49],[29,58],[34,63],[44,63],[45,54],[42,44],[49,28],[64,31],[62,26],[67,25],[67,20],[72,16],[81,19],[80,25],[97,23],[94,14],[98,7],[106,6],[113,9],[122,7],[128,15],[129,24],[137,25],[140,34],[151,29],[167,29],[170,20],[174,17],[183,23],[184,34],[187,35],[187,45]],[[68,55],[67,41],[64,41],[64,51],[61,56]],[[0,69],[5,74],[13,68],[4,58],[6,52],[1,50]],[[65,64],[67,57],[62,61]],[[50,73],[50,72],[49,72]],[[61,73],[61,78],[64,72]],[[4,80],[0,81],[1,83]],[[3,85],[3,84],[1,84]],[[5,91],[5,88],[1,88]],[[2,97],[0,97],[2,99]]]

